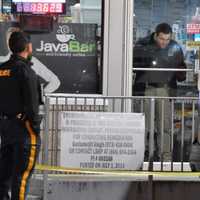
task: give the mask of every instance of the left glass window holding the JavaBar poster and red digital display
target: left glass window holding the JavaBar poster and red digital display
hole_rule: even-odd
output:
[[[31,34],[32,68],[46,93],[101,93],[102,0],[3,0],[0,62],[13,30]],[[8,33],[9,32],[9,33]]]

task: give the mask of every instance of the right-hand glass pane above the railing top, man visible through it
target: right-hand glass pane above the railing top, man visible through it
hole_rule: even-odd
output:
[[[166,26],[156,32],[162,23],[168,24],[172,33]],[[174,91],[170,96],[197,95],[194,72],[198,67],[199,23],[198,0],[134,1],[133,67],[149,68],[135,70],[134,95],[147,95],[146,88],[163,86]]]

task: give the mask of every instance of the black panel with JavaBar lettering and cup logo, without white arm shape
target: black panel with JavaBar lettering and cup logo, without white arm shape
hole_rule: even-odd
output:
[[[32,35],[33,55],[59,78],[59,93],[97,93],[96,24],[55,24]]]

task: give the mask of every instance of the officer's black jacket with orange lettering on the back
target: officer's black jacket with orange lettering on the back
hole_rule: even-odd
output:
[[[0,65],[0,114],[11,117],[18,113],[34,122],[38,118],[39,82],[31,62],[12,55]]]

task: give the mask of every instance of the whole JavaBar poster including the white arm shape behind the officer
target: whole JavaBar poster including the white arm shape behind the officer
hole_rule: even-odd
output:
[[[29,23],[31,30],[34,27],[32,23]],[[39,29],[46,29],[43,23],[40,24]],[[7,46],[11,27],[19,28],[19,24],[0,23],[0,63],[11,55]],[[32,69],[40,77],[45,92],[98,93],[96,30],[96,24],[78,23],[55,23],[52,31],[42,33],[35,28],[31,34]]]

